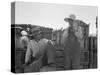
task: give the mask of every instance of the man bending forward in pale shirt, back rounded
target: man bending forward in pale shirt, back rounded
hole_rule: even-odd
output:
[[[40,69],[43,67],[43,58],[47,55],[47,62],[49,64],[54,64],[54,51],[52,51],[53,47],[50,45],[49,41],[47,39],[41,38],[41,31],[39,27],[36,27],[32,31],[32,40],[30,40],[26,57],[25,57],[25,63],[28,64],[30,62],[30,59],[32,60],[31,63],[29,63],[29,66],[27,69],[25,69],[25,72],[39,72]]]

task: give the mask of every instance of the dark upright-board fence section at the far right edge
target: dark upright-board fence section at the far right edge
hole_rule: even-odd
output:
[[[97,37],[89,37],[89,67],[97,68]]]

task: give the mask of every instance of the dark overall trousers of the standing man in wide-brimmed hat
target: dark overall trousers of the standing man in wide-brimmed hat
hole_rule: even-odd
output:
[[[69,37],[64,46],[65,70],[80,68],[80,43],[77,39]]]

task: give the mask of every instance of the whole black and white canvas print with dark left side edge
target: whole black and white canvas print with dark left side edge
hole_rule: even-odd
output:
[[[11,3],[11,72],[97,69],[98,7]]]

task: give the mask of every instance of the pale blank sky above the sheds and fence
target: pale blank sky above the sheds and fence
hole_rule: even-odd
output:
[[[32,24],[53,29],[67,28],[65,17],[75,14],[76,19],[90,24],[89,34],[96,33],[96,6],[80,6],[68,4],[48,4],[34,2],[15,3],[15,24]]]

